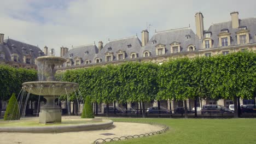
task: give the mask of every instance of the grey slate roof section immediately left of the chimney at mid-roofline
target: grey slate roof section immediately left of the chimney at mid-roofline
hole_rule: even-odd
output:
[[[128,45],[131,45],[129,48]],[[109,51],[108,48],[111,48]],[[139,55],[139,50],[141,49],[141,40],[136,36],[127,37],[123,39],[110,40],[104,45],[103,49],[98,53],[96,57],[102,58],[102,62],[106,62],[105,53],[113,52],[114,58],[113,61],[117,61],[117,51],[125,51],[125,59],[131,59],[130,55],[132,52],[135,52]],[[139,56],[140,57],[140,56]]]

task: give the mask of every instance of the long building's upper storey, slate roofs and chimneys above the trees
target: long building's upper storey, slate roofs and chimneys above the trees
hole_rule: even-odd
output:
[[[161,64],[168,59],[181,57],[211,57],[227,55],[237,51],[256,50],[256,18],[238,19],[238,12],[230,13],[231,21],[213,23],[203,27],[202,13],[195,14],[196,33],[190,27],[155,32],[149,39],[149,32],[109,40],[103,46],[96,44],[61,47],[61,56],[67,59],[58,71],[92,67],[94,65],[118,64],[126,61],[153,62]]]

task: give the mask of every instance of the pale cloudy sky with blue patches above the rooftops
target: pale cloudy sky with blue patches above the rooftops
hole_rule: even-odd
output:
[[[0,33],[31,45],[55,49],[87,45],[156,31],[191,27],[201,12],[204,27],[238,17],[256,17],[255,0],[0,0]]]

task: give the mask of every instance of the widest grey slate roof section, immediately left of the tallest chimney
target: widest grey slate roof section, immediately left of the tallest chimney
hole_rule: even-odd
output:
[[[190,39],[186,39],[186,35],[190,35]],[[156,43],[152,44],[152,41],[154,40]],[[201,40],[198,39],[192,29],[187,27],[156,32],[148,41],[147,45],[142,47],[140,53],[143,56],[144,51],[150,51],[152,56],[156,56],[155,46],[158,44],[164,44],[166,47],[166,54],[170,54],[170,44],[174,41],[181,43],[181,52],[187,52],[187,47],[190,44],[194,45],[196,50],[201,49]]]

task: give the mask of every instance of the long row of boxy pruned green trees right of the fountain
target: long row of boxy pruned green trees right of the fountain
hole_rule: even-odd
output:
[[[255,98],[256,53],[172,59],[162,65],[127,62],[67,70],[62,78],[79,83],[82,95],[107,106],[113,101],[130,101],[142,102],[144,107],[146,101],[167,99],[194,99],[196,105],[198,98],[205,98],[232,99],[236,108],[239,99]],[[237,109],[235,113],[237,117]]]

